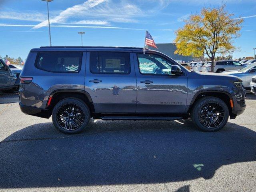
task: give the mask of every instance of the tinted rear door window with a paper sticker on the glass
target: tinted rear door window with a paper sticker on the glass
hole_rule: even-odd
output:
[[[99,74],[130,74],[127,52],[90,52],[90,70]]]

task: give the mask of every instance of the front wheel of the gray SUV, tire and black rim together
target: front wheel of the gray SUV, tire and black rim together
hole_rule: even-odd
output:
[[[205,132],[216,132],[222,129],[228,122],[228,116],[229,110],[225,102],[211,96],[198,99],[191,110],[192,122]]]

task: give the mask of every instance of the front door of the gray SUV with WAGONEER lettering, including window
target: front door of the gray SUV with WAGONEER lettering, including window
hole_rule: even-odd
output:
[[[168,70],[170,71],[168,64],[174,63],[164,58],[164,56],[138,54],[138,57],[134,53],[137,78],[136,112],[185,112],[188,87],[186,72],[180,76],[165,74]]]

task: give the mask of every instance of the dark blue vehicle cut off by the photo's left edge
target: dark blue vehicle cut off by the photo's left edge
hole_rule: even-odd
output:
[[[19,89],[21,69],[11,69],[0,59],[0,91],[14,92]]]

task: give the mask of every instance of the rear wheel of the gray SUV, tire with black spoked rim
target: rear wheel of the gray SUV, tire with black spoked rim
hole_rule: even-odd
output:
[[[90,120],[90,110],[78,98],[60,100],[52,110],[54,126],[64,134],[77,134],[86,128]]]

